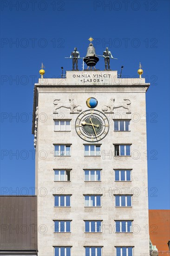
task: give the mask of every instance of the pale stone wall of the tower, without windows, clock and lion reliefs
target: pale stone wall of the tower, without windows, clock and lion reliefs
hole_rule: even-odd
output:
[[[145,79],[118,78],[117,71],[68,71],[65,79],[39,79],[34,90],[33,134],[36,107],[36,187],[38,199],[38,255],[53,256],[54,246],[72,246],[72,256],[84,256],[85,246],[102,246],[103,256],[116,256],[117,246],[132,246],[133,256],[149,256]],[[84,156],[84,144],[75,130],[86,100],[98,100],[102,112],[111,98],[117,108],[107,109],[109,132],[99,142],[101,156]],[[127,110],[124,99],[131,102]],[[118,107],[120,105],[120,107]],[[79,108],[79,110],[81,110]],[[55,119],[71,120],[71,131],[54,131]],[[130,131],[114,131],[113,120],[130,120]],[[71,144],[71,156],[54,156],[54,144]],[[114,156],[114,144],[130,144],[131,156]],[[71,169],[71,181],[54,182],[53,169]],[[100,182],[85,182],[84,169],[101,169]],[[131,169],[131,181],[116,182],[114,169]],[[54,207],[54,194],[71,196],[71,207]],[[84,195],[102,195],[101,207],[85,207]],[[115,195],[132,195],[132,207],[115,207]],[[72,220],[71,233],[54,233],[53,220]],[[85,233],[84,220],[102,220],[101,233]],[[131,233],[116,233],[115,220],[132,220]]]

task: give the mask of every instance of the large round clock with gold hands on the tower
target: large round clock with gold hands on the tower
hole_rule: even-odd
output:
[[[75,128],[81,139],[89,142],[101,141],[109,131],[109,121],[101,111],[89,109],[78,115]]]

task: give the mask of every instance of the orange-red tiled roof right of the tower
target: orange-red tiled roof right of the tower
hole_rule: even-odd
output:
[[[149,234],[159,256],[170,255],[170,210],[149,210]]]

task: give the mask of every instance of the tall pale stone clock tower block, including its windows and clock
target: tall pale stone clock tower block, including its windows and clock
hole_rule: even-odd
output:
[[[39,256],[149,255],[148,87],[111,70],[41,74],[33,110]]]

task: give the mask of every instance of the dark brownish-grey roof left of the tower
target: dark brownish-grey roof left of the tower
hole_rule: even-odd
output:
[[[0,251],[37,250],[37,197],[0,196]]]

